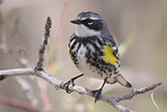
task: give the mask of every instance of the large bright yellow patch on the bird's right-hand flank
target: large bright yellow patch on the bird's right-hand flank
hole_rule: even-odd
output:
[[[113,50],[109,45],[105,45],[103,48],[104,56],[103,60],[107,63],[115,64],[117,61],[116,57],[113,55]]]

